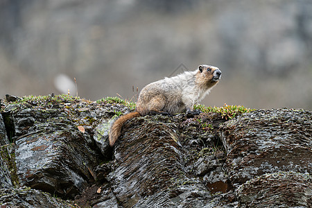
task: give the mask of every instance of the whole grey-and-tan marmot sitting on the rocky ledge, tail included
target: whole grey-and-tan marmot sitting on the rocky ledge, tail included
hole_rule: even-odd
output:
[[[123,123],[147,114],[193,112],[193,105],[201,101],[218,83],[221,71],[217,67],[200,65],[195,71],[185,71],[171,78],[164,78],[146,85],[140,92],[135,112],[116,119],[110,128],[110,146],[121,135]]]

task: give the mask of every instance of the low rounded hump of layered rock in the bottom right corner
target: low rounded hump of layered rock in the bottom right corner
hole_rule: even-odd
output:
[[[241,207],[312,207],[309,173],[277,172],[255,177],[237,189]]]

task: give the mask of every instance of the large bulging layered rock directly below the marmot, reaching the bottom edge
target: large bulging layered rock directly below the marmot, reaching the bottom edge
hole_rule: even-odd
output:
[[[184,159],[189,150],[181,144],[177,125],[184,120],[178,122],[177,118],[181,119],[180,116],[146,116],[125,123],[114,152],[114,170],[110,173],[114,195],[123,207],[222,204],[218,198],[211,202],[209,189],[200,178],[188,173]],[[204,161],[198,159],[198,164],[202,164],[195,171],[198,175],[215,167],[214,164],[207,167],[205,164],[209,162]]]

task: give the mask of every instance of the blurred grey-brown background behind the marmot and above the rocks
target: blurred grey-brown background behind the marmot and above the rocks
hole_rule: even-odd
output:
[[[223,72],[202,104],[312,110],[312,1],[0,0],[0,98],[76,96],[76,78],[136,101],[199,64]]]

